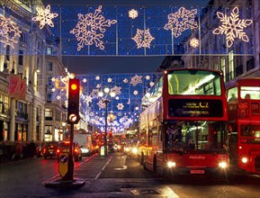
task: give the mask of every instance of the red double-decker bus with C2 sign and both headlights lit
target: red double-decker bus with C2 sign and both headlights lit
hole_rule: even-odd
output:
[[[167,69],[142,99],[139,163],[155,173],[226,173],[227,97],[222,73]]]

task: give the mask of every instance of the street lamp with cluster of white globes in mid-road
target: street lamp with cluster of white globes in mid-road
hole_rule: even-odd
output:
[[[104,94],[103,94],[104,92]],[[107,156],[107,106],[108,103],[111,102],[111,100],[108,99],[108,95],[110,95],[111,97],[115,96],[114,92],[110,92],[109,88],[104,88],[103,92],[99,92],[98,96],[103,97],[104,96],[104,100],[103,103],[105,104],[105,112],[104,112],[104,139],[103,139],[103,146],[104,146],[104,155]]]

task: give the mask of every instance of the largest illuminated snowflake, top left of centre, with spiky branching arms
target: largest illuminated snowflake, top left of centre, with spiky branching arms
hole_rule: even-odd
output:
[[[106,31],[105,27],[110,27],[116,23],[116,20],[105,20],[102,14],[102,5],[94,11],[94,14],[77,14],[79,22],[76,24],[76,28],[69,31],[75,34],[77,43],[77,50],[79,51],[85,45],[93,45],[95,47],[104,49],[103,46],[103,33]]]

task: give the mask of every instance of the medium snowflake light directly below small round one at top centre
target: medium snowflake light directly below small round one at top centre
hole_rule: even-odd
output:
[[[132,40],[135,40],[137,43],[138,49],[139,48],[150,48],[150,43],[155,38],[151,36],[149,29],[147,30],[137,30],[136,35]]]

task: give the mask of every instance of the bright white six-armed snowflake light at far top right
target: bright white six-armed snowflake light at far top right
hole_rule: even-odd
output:
[[[217,15],[222,24],[218,28],[216,28],[213,31],[213,33],[226,34],[228,48],[230,48],[233,45],[233,42],[236,38],[240,40],[244,40],[246,42],[249,41],[244,29],[247,28],[248,25],[253,23],[253,21],[249,19],[240,20],[238,13],[239,13],[238,7],[235,7],[232,10],[230,16],[217,12]]]

